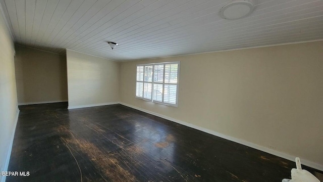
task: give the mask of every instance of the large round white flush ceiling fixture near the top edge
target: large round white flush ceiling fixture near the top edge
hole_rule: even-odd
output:
[[[253,3],[245,0],[235,0],[224,6],[220,11],[220,16],[224,19],[244,18],[252,13]]]

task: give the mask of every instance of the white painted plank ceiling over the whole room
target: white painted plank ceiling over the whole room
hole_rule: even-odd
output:
[[[322,0],[253,0],[248,17],[222,19],[229,2],[0,0],[17,44],[116,61],[323,39]]]

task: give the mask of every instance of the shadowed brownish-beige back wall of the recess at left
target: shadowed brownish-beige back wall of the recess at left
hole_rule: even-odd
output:
[[[67,101],[66,56],[16,45],[19,104]]]

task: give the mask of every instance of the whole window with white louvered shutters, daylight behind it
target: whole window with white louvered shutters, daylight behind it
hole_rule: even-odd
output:
[[[177,107],[180,62],[137,65],[136,97]]]

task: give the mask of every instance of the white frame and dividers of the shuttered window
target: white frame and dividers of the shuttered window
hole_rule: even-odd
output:
[[[171,104],[171,103],[164,103],[164,102],[160,102],[160,101],[154,101],[153,100],[153,84],[154,84],[154,79],[153,79],[153,76],[154,76],[154,66],[155,65],[166,65],[166,64],[178,64],[178,68],[177,68],[177,83],[167,83],[167,84],[171,84],[171,85],[177,85],[176,87],[176,104]],[[148,101],[148,102],[153,102],[153,103],[157,103],[157,104],[161,104],[161,105],[166,105],[166,106],[172,106],[172,107],[178,107],[178,96],[179,96],[179,80],[180,80],[180,67],[181,67],[181,64],[180,64],[180,61],[176,61],[176,62],[163,62],[163,63],[149,63],[149,64],[138,64],[136,65],[136,75],[137,75],[137,67],[138,66],[150,66],[152,65],[152,88],[151,88],[151,100],[149,99],[145,99],[143,97],[137,97],[136,95],[136,92],[135,92],[135,98],[137,99],[141,99],[141,100],[144,100],[144,101]],[[143,75],[145,75],[145,69],[144,69],[144,73]],[[136,77],[136,87],[137,87],[137,82],[142,82],[143,85],[145,82],[147,83],[150,83],[148,81],[137,81],[137,76]],[[157,82],[158,84],[163,84],[163,101],[164,101],[164,86],[165,86],[165,66],[164,66],[164,74],[163,74],[163,83],[160,83],[160,82]],[[136,89],[135,89],[136,90]],[[144,90],[144,86],[143,86],[143,90]],[[144,93],[142,93],[144,94]]]

